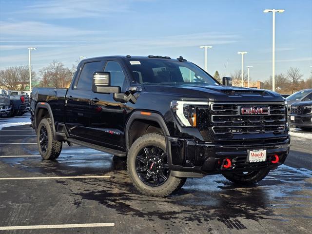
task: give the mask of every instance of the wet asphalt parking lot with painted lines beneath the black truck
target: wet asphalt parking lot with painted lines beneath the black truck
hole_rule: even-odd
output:
[[[63,144],[41,160],[28,117],[0,119],[0,233],[312,233],[311,132],[292,130],[286,165],[256,186],[206,176],[155,198],[136,191],[123,158]]]

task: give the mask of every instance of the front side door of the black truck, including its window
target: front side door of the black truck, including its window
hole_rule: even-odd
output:
[[[109,60],[105,64],[105,72],[111,74],[111,86],[120,86],[121,93],[129,89],[130,82],[125,69],[117,60]],[[94,143],[123,150],[125,103],[117,102],[113,94],[91,94],[90,129]]]

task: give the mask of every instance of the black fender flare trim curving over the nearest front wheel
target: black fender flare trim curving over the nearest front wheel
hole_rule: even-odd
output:
[[[126,140],[126,150],[127,152],[130,149],[130,143],[129,143],[129,129],[132,125],[132,123],[135,120],[138,119],[143,119],[143,120],[151,120],[154,121],[156,123],[159,124],[159,126],[161,127],[162,131],[164,132],[165,136],[170,136],[169,133],[169,129],[167,127],[167,124],[164,120],[164,118],[158,114],[158,113],[154,113],[154,112],[144,112],[144,113],[150,113],[150,115],[143,115],[141,114],[142,111],[134,111],[131,116],[128,118],[127,123],[126,123],[126,128],[125,128],[125,140]]]

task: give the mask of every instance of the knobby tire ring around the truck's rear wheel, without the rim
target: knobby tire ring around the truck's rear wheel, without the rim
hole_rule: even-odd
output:
[[[48,137],[46,152],[43,152],[41,150],[40,140],[39,140],[40,129],[43,126],[47,130],[47,137]],[[54,140],[52,121],[50,118],[43,118],[39,123],[38,129],[37,129],[37,145],[38,145],[39,153],[44,160],[54,160],[59,157],[63,144],[61,141]]]

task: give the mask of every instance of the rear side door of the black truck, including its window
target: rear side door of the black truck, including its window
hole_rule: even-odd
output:
[[[72,137],[90,138],[90,97],[93,73],[102,71],[104,61],[87,60],[78,68],[78,75],[66,96],[66,126]]]

